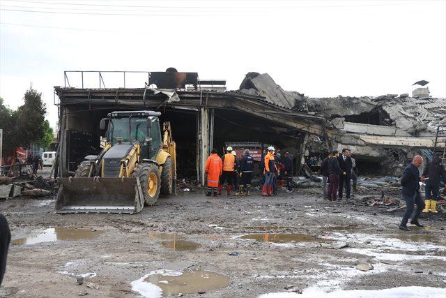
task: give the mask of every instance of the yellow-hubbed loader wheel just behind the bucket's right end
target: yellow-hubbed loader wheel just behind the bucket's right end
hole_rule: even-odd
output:
[[[139,177],[146,205],[150,206],[155,204],[160,195],[161,188],[160,170],[158,170],[158,166],[153,163],[139,163],[134,172],[134,177]]]

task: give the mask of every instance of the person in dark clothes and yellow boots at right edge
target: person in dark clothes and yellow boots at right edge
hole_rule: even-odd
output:
[[[438,213],[437,211],[437,200],[438,194],[440,193],[440,181],[446,180],[446,170],[442,164],[443,159],[441,155],[436,155],[430,163],[424,167],[422,176],[426,177],[426,187],[425,187],[425,198],[423,212]],[[428,179],[429,178],[429,179]]]

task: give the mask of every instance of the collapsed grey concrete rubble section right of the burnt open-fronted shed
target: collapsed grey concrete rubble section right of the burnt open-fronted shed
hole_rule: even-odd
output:
[[[415,84],[427,83],[423,80]],[[360,161],[357,166],[363,173],[399,176],[403,165],[415,154],[429,160],[432,150],[444,151],[445,135],[439,128],[446,126],[446,98],[431,98],[426,87],[415,89],[413,97],[387,94],[310,98],[284,91],[266,73],[249,73],[240,91],[263,95],[269,103],[323,117],[328,140],[310,136],[305,144],[306,155],[346,147],[355,151]]]

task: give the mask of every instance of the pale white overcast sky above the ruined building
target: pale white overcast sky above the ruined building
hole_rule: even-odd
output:
[[[52,126],[63,70],[175,67],[229,89],[256,71],[312,97],[410,93],[428,80],[432,96],[446,97],[445,0],[0,0],[0,23],[0,96],[15,108],[32,83]]]

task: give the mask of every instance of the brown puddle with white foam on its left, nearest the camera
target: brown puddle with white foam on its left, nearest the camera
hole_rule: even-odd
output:
[[[144,297],[167,297],[182,294],[197,294],[225,288],[229,277],[212,271],[157,270],[132,281],[132,290]]]

